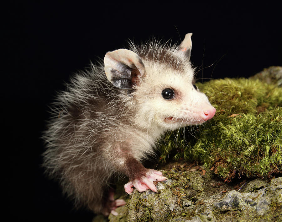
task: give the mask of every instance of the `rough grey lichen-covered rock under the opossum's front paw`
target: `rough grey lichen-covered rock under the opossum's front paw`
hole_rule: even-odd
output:
[[[201,169],[164,171],[169,179],[157,183],[158,193],[134,189],[110,221],[282,221],[282,177],[250,180],[238,191],[243,184],[216,181]]]

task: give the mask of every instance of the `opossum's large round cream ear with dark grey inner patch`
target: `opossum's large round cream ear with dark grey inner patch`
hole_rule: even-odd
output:
[[[128,49],[108,52],[104,63],[108,80],[120,89],[132,89],[145,74],[142,59]]]

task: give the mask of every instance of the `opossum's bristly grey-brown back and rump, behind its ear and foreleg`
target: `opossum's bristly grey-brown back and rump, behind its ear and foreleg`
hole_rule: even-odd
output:
[[[92,203],[92,198],[99,203],[102,184],[108,184],[111,176],[106,173],[108,166],[101,159],[99,147],[106,139],[102,135],[116,118],[117,96],[103,67],[91,64],[70,79],[66,91],[60,92],[51,106],[52,117],[43,135],[43,166],[47,176],[58,180],[63,193],[77,206]]]

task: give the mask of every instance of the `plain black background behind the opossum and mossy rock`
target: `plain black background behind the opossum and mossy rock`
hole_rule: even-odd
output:
[[[3,7],[3,183],[10,221],[91,221],[72,211],[40,168],[48,107],[72,73],[107,51],[193,32],[198,78],[249,77],[282,65],[280,6],[272,2],[41,3]]]

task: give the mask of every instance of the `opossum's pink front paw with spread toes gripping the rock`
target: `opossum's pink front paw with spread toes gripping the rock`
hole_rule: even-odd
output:
[[[128,194],[132,194],[133,188],[135,187],[139,192],[151,189],[154,192],[158,192],[157,187],[154,185],[153,181],[164,181],[167,178],[163,176],[163,173],[153,169],[147,169],[145,175],[140,176],[138,179],[133,179],[128,181],[124,185],[124,190]]]

